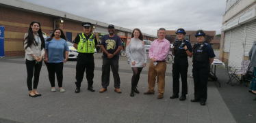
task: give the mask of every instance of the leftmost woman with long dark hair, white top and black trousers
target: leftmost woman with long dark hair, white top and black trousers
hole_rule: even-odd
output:
[[[25,59],[27,67],[27,88],[29,96],[41,96],[36,89],[38,87],[39,75],[42,67],[42,57],[44,56],[44,37],[40,23],[33,21],[29,25],[28,33],[24,37]],[[32,78],[34,75],[34,84],[32,90]]]

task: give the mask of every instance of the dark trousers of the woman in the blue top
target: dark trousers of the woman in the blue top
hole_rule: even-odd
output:
[[[55,73],[57,76],[57,85],[59,88],[62,87],[63,81],[63,63],[45,63],[48,69],[49,81],[51,83],[51,87],[55,87]]]

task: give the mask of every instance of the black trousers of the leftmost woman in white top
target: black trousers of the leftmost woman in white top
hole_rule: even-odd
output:
[[[42,68],[42,61],[40,63],[36,63],[36,60],[27,60],[26,59],[26,67],[27,67],[27,88],[28,90],[32,90],[32,78],[34,75],[34,85],[33,88],[38,88],[39,75]]]

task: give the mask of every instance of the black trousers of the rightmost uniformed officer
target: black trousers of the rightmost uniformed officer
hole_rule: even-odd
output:
[[[194,99],[200,99],[201,102],[207,100],[207,82],[210,71],[209,63],[193,63],[194,77]]]

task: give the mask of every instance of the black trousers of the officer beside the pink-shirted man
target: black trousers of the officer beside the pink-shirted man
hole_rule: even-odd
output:
[[[188,57],[175,58],[172,64],[172,91],[179,94],[179,75],[181,75],[182,90],[181,94],[188,94]]]

